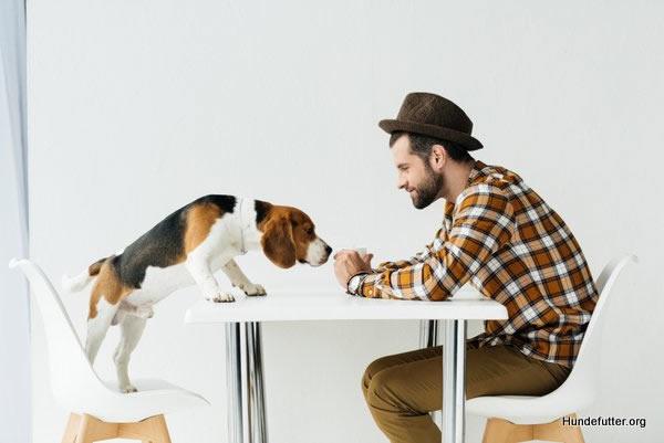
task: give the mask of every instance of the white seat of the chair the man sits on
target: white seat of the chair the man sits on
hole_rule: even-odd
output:
[[[561,401],[559,395],[492,395],[466,401],[466,412],[486,418],[504,419],[515,424],[551,423],[577,412],[574,401]],[[572,400],[572,399],[569,399]]]

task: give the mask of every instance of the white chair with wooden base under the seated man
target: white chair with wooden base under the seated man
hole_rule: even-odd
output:
[[[604,309],[618,274],[635,255],[613,259],[596,281],[600,298],[585,330],[577,361],[567,380],[542,397],[477,397],[466,402],[468,413],[486,416],[483,443],[516,443],[544,440],[583,443],[580,426],[563,424],[562,418],[575,419],[575,413],[589,407],[599,391],[600,337],[605,320]]]

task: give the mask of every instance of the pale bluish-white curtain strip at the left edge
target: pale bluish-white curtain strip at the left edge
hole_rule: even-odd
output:
[[[32,435],[30,304],[7,264],[28,253],[25,27],[21,0],[0,2],[0,442]]]

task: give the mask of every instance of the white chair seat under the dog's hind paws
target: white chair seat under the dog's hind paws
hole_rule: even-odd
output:
[[[85,392],[66,395],[66,407],[110,423],[137,422],[149,416],[168,414],[188,408],[209,405],[201,395],[158,379],[138,379],[133,383],[138,392],[123,393],[116,382],[103,381],[108,388],[95,394]]]

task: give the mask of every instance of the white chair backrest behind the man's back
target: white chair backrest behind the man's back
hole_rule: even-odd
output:
[[[609,262],[595,282],[600,298],[594,307],[590,323],[583,335],[581,349],[577,356],[574,367],[568,379],[558,390],[573,392],[574,397],[582,397],[587,403],[594,399],[600,381],[600,351],[602,329],[605,323],[605,309],[610,300],[611,289],[615,284],[618,275],[630,262],[636,263],[636,255],[626,254],[618,256]]]

